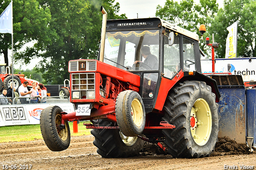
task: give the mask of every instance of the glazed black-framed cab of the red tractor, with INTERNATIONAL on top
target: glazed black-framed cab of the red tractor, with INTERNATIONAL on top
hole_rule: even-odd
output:
[[[159,18],[107,20],[103,61],[140,75],[146,112],[154,108],[162,77],[172,80],[182,71],[201,71],[195,51],[197,34]]]

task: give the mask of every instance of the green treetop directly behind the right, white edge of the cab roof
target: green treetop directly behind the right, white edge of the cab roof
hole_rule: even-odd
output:
[[[198,29],[200,24],[205,24],[206,28],[211,26],[218,12],[218,3],[216,0],[200,0],[199,4],[195,4],[194,0],[182,0],[174,2],[166,0],[164,7],[160,5],[156,8],[156,16],[171,22],[177,26],[196,32],[200,35]],[[208,32],[204,36],[209,36]],[[201,49],[208,49],[205,41],[201,41]]]

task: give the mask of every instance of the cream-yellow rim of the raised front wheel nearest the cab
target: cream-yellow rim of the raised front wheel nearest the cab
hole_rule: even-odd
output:
[[[132,120],[137,127],[143,123],[143,109],[138,99],[133,99],[131,107]]]

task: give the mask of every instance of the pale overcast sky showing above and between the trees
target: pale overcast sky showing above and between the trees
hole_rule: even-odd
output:
[[[180,1],[180,0],[176,0]],[[119,2],[120,9],[118,15],[126,14],[128,19],[137,18],[152,18],[156,14],[156,6],[160,5],[164,7],[166,0],[115,0],[114,4]],[[194,0],[195,3],[199,3],[199,0]],[[219,7],[223,6],[223,0],[217,0]],[[30,43],[30,45],[32,45]],[[12,63],[12,51],[8,50],[9,65]],[[0,63],[4,63],[4,55],[0,55]],[[33,69],[38,63],[38,59],[32,59],[31,63],[24,65],[22,63],[14,62],[14,68],[18,69],[22,65],[21,69]]]

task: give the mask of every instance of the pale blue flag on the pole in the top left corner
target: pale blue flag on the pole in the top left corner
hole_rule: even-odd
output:
[[[0,33],[12,34],[12,2],[0,15]]]

